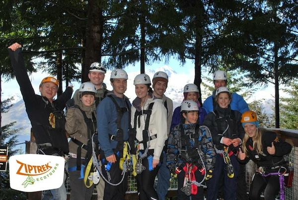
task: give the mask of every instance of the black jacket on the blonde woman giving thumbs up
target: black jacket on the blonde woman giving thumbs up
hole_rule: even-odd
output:
[[[275,146],[275,155],[270,155],[267,152],[267,147]],[[265,130],[262,132],[262,153],[257,153],[253,150],[253,141],[249,138],[245,144],[247,149],[247,157],[240,161],[247,163],[250,159],[257,164],[258,167],[276,167],[285,164],[284,155],[289,154],[292,150],[291,144],[280,140],[273,131]]]

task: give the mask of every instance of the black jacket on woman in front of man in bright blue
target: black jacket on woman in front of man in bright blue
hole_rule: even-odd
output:
[[[217,106],[214,111],[207,114],[203,125],[210,129],[215,147],[222,150],[224,148],[224,145],[221,143],[222,137],[240,138],[242,140],[244,130],[240,120],[241,113],[239,111],[231,110],[230,106],[227,108]],[[233,145],[230,145],[230,149],[232,151],[237,150]]]

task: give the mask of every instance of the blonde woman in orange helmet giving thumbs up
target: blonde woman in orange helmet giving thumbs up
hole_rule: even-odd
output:
[[[273,174],[287,175],[288,167],[284,155],[291,152],[292,146],[280,140],[275,132],[259,128],[254,111],[244,112],[241,123],[245,135],[242,149],[239,148],[238,159],[242,163],[252,160],[258,167],[250,186],[249,199],[259,200],[261,192],[265,189],[264,199],[274,200],[280,191],[280,176]]]

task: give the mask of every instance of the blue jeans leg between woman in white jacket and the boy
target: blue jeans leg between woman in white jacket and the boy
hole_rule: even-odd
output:
[[[170,170],[166,167],[166,154],[164,152],[162,152],[162,154],[162,163],[157,173],[158,181],[156,193],[158,195],[158,200],[165,200],[171,178]]]

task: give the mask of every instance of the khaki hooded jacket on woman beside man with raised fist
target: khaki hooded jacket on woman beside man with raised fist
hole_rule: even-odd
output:
[[[70,137],[77,139],[78,141],[82,142],[83,144],[87,145],[88,141],[88,127],[85,123],[84,116],[82,112],[79,110],[81,109],[86,113],[87,118],[92,119],[92,113],[96,116],[95,113],[95,103],[91,106],[85,106],[79,97],[79,92],[74,93],[74,102],[77,107],[70,107],[67,109],[66,112],[66,124],[65,130],[70,135]],[[95,127],[89,127],[91,130],[94,131]],[[72,140],[69,142],[70,152],[76,154],[78,145],[75,144]],[[85,157],[87,151],[82,148],[81,157]]]

